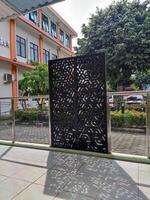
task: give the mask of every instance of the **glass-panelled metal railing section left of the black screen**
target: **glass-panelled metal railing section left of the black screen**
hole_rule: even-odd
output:
[[[0,140],[51,146],[49,96],[2,97],[0,105]]]

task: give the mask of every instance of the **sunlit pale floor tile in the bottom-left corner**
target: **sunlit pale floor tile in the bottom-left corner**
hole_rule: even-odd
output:
[[[2,195],[6,196],[6,199],[7,197],[11,199],[12,197],[16,196],[19,192],[24,190],[28,185],[29,185],[28,182],[16,180],[13,178],[8,178],[0,184],[0,194],[2,192]],[[5,198],[0,198],[0,199],[5,199]]]

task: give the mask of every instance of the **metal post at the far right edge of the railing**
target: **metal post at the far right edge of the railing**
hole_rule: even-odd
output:
[[[146,146],[147,146],[147,157],[150,158],[150,93],[147,93],[147,120],[146,120]]]

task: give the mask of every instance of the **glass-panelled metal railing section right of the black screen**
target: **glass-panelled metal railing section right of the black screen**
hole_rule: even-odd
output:
[[[150,157],[150,91],[108,92],[112,152]]]

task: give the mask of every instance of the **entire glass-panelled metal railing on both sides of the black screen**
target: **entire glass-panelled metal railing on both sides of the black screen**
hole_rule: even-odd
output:
[[[107,96],[109,152],[150,157],[150,91]],[[49,107],[49,96],[0,98],[0,140],[51,146]]]

